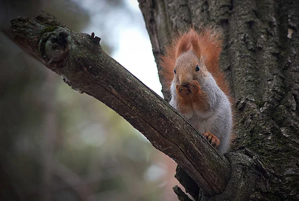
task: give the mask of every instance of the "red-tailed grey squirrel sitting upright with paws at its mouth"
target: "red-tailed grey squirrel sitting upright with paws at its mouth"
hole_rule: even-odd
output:
[[[161,70],[170,89],[169,104],[222,154],[232,131],[229,87],[219,69],[222,34],[190,28],[166,46]]]

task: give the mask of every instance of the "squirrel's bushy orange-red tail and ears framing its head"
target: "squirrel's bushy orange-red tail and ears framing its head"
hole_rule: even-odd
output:
[[[193,50],[198,58],[203,59],[208,71],[216,80],[219,88],[229,95],[229,88],[226,84],[224,74],[219,69],[219,56],[222,46],[222,34],[213,29],[201,28],[196,31],[190,28],[185,33],[179,33],[172,39],[170,45],[166,47],[165,55],[161,56],[162,70],[159,74],[164,77],[164,83],[170,87],[174,76],[174,65],[176,58],[183,52]]]

